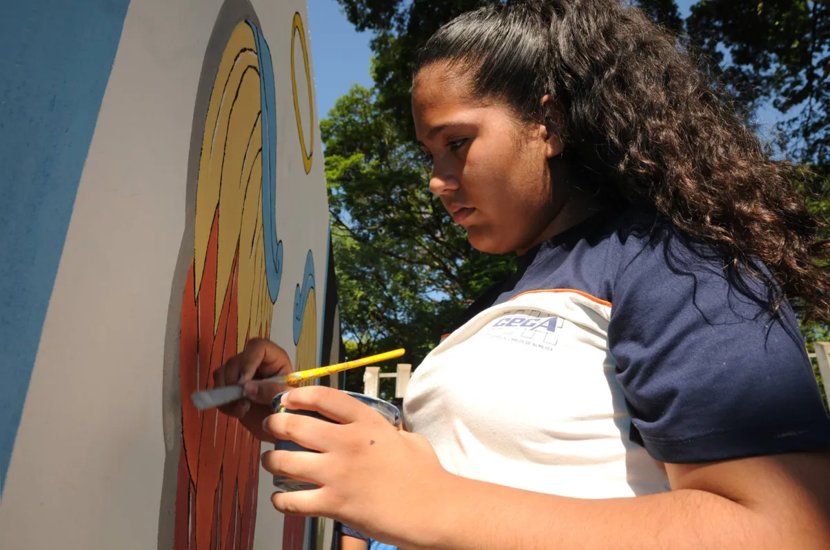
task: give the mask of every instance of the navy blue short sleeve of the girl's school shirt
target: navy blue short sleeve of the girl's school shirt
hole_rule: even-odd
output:
[[[789,303],[772,318],[763,284],[693,250],[676,236],[622,247],[608,342],[632,441],[670,463],[830,449]]]

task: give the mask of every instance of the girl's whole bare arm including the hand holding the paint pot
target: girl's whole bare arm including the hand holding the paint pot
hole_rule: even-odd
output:
[[[574,499],[452,475],[425,438],[331,388],[298,388],[284,402],[339,423],[268,418],[274,437],[320,451],[263,455],[271,473],[322,485],[275,494],[276,508],[332,517],[401,548],[830,548],[830,452],[666,464],[669,493]]]

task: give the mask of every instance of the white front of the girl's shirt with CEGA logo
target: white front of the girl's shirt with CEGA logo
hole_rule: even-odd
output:
[[[662,466],[628,439],[610,314],[607,302],[556,291],[482,311],[415,370],[408,428],[474,480],[593,499],[669,490]]]

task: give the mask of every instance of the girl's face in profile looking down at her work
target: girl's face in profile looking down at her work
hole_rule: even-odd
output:
[[[552,181],[549,159],[562,152],[562,142],[544,124],[521,121],[507,104],[475,99],[452,72],[428,65],[413,87],[418,145],[433,162],[430,191],[473,247],[524,253],[558,232],[554,219],[569,193],[564,178]]]

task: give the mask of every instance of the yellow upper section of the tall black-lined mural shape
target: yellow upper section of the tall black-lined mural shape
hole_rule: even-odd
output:
[[[216,316],[237,277],[237,351],[247,336],[268,335],[273,305],[267,295],[262,234],[261,87],[256,39],[240,22],[227,42],[213,81],[202,139],[196,191],[194,259],[196,287],[201,286],[207,240],[219,211]]]

